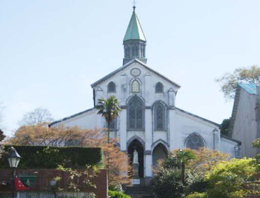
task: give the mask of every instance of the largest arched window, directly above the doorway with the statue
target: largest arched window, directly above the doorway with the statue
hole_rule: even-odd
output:
[[[144,104],[134,96],[128,103],[128,130],[143,130],[144,127]]]

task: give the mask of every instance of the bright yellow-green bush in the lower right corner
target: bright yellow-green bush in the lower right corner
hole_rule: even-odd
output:
[[[209,198],[245,198],[254,194],[246,188],[247,183],[255,180],[256,165],[253,158],[222,161],[205,176],[210,187],[206,190]]]

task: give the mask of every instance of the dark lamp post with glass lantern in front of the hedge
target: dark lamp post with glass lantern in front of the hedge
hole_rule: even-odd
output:
[[[8,162],[10,168],[12,168],[12,198],[15,198],[15,177],[16,177],[16,168],[21,160],[20,154],[18,154],[14,147],[11,147],[11,154],[8,157]]]

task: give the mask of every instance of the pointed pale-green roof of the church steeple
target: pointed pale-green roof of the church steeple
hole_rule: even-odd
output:
[[[134,7],[135,8],[135,7]],[[144,32],[141,24],[137,18],[135,11],[133,10],[132,17],[130,19],[127,32],[124,38],[124,42],[131,39],[138,39],[146,42]]]

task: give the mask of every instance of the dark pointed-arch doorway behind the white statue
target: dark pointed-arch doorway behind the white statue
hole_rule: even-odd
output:
[[[144,177],[144,147],[137,139],[134,139],[128,147],[128,155],[130,158],[131,165],[133,162],[134,151],[138,153],[138,163],[139,163],[138,175],[139,178],[143,178]]]

